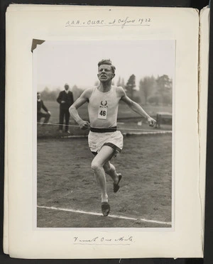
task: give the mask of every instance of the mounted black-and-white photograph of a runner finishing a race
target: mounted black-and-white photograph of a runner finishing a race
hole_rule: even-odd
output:
[[[33,87],[35,227],[172,231],[175,40],[44,40]]]

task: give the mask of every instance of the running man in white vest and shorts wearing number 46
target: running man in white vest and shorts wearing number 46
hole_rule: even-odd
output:
[[[82,95],[70,106],[70,114],[80,125],[81,129],[89,128],[89,148],[94,154],[92,171],[102,192],[102,214],[108,216],[110,206],[107,195],[105,172],[114,182],[114,192],[119,190],[121,174],[116,172],[110,160],[121,152],[123,136],[116,130],[116,120],[119,101],[124,101],[133,111],[148,120],[149,126],[155,126],[155,120],[142,107],[126,96],[122,87],[111,85],[116,68],[111,60],[101,60],[98,63],[100,84],[98,87],[86,89]],[[88,102],[89,122],[80,118],[77,109]]]

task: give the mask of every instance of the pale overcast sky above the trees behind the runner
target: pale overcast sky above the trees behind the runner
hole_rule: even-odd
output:
[[[60,41],[38,45],[37,88],[63,89],[70,87],[92,87],[97,81],[97,63],[110,59],[116,67],[114,84],[119,77],[125,83],[130,75],[136,75],[136,87],[141,78],[168,75],[174,78],[175,40],[122,40],[122,41]]]

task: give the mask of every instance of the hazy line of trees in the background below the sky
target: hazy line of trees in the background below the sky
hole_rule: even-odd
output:
[[[94,85],[98,85],[95,82]],[[113,85],[114,82],[112,82]],[[128,97],[137,101],[139,104],[155,104],[155,105],[170,105],[173,101],[173,80],[168,75],[158,77],[144,77],[140,79],[138,89],[136,88],[136,76],[131,75],[128,81],[124,82],[124,78],[119,77],[116,86],[121,86],[125,89]],[[74,100],[76,100],[84,89],[74,85],[72,87]],[[41,96],[43,100],[55,101],[61,89],[58,87],[55,90],[50,90],[48,87],[43,89]]]

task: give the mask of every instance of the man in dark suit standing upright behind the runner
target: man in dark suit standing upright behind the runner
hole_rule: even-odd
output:
[[[64,91],[60,92],[57,98],[58,104],[60,104],[60,114],[59,114],[59,132],[62,133],[64,118],[65,118],[65,132],[70,133],[69,131],[69,120],[70,112],[69,108],[73,104],[73,95],[69,90],[69,85],[65,84]]]

